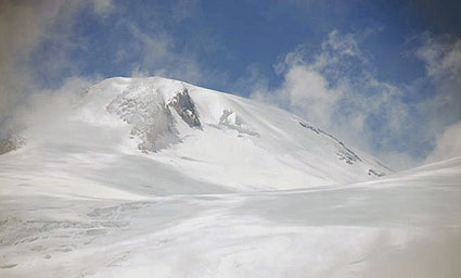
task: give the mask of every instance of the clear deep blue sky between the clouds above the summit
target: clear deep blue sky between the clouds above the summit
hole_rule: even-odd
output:
[[[380,68],[379,77],[409,81],[422,76],[424,64],[402,53],[418,43],[409,40],[423,31],[450,27],[431,24],[410,7],[370,2],[373,1],[113,1],[113,10],[103,16],[87,5],[73,15],[69,30],[73,40],[85,41],[62,46],[60,38],[51,36],[31,53],[31,66],[43,67],[52,59],[53,48],[61,48],[59,51],[65,51],[75,64],[74,71],[60,73],[59,78],[41,76],[43,86],[53,86],[66,74],[129,75],[132,65],[155,72],[162,66],[143,63],[144,53],[137,51],[140,46],[136,40],[140,39],[130,29],[135,27],[146,36],[167,36],[171,53],[189,55],[208,71],[227,75],[229,80],[199,80],[227,90],[233,89],[229,83],[242,77],[251,65],[258,66],[276,85],[280,78],[272,66],[280,55],[302,43],[313,52],[332,30],[348,34],[375,29],[379,34],[364,40],[363,48]],[[114,58],[120,50],[132,52],[117,61]]]

